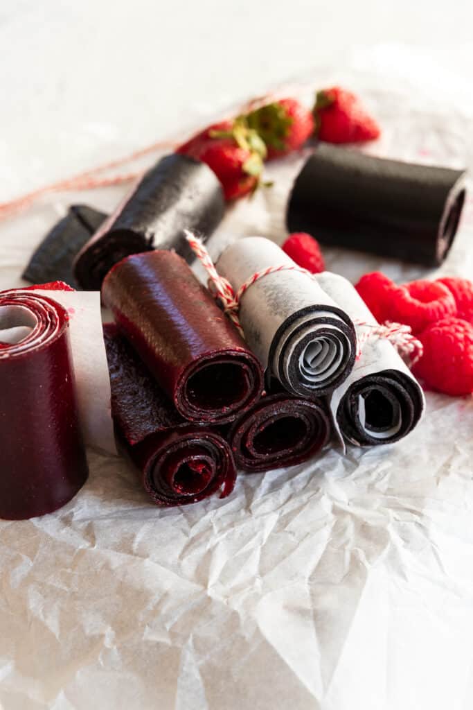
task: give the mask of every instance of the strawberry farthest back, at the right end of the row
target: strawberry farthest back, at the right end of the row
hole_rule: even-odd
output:
[[[362,107],[360,99],[340,87],[317,93],[313,115],[318,138],[328,143],[372,141],[381,132],[376,121]]]

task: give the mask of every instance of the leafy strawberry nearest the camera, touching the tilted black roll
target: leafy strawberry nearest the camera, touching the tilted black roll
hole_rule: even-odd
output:
[[[265,142],[248,127],[244,116],[208,126],[177,148],[177,153],[206,163],[220,180],[228,201],[257,189],[267,155]]]

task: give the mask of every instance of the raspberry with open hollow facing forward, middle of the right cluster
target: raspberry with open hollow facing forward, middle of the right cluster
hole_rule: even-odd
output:
[[[414,334],[447,315],[457,315],[457,306],[443,283],[418,280],[396,288],[391,320],[410,325]]]

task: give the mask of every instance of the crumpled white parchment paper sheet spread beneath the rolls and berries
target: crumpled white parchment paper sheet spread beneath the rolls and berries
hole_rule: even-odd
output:
[[[473,167],[469,87],[396,53],[363,57],[311,80],[362,92],[384,127],[367,150]],[[298,160],[274,165],[274,191],[230,212],[214,253],[234,234],[282,241]],[[123,192],[80,197],[111,209]],[[77,197],[0,225],[1,288],[21,285],[33,246]],[[473,276],[471,206],[442,273]],[[325,256],[350,280],[425,274]],[[472,398],[432,394],[399,444],[240,476],[225,501],[177,510],[150,506],[124,461],[91,454],[65,508],[0,522],[0,706],[471,710],[472,461]]]

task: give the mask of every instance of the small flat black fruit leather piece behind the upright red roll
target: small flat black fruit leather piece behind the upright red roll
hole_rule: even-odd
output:
[[[72,273],[74,259],[106,216],[87,204],[72,204],[33,253],[23,278],[31,283],[63,281],[78,288]]]

